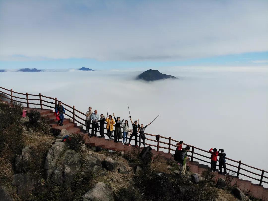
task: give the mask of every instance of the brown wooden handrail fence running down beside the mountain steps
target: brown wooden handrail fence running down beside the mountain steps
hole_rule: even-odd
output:
[[[55,108],[54,105],[56,105],[57,102],[58,102],[57,98],[52,98],[52,97],[44,96],[44,95],[41,95],[41,94],[28,94],[28,93],[24,94],[24,93],[14,92],[12,89],[9,90],[9,89],[5,89],[5,88],[3,88],[3,87],[0,87],[0,88],[6,90],[6,91],[8,91],[8,92],[10,92],[10,94],[9,94],[9,93],[0,91],[1,93],[10,96],[10,98],[9,98],[9,97],[5,97],[5,96],[3,96],[3,95],[0,94],[1,97],[4,97],[4,98],[9,99],[9,100],[11,101],[11,103],[12,103],[12,101],[16,101],[16,102],[19,102],[19,103],[27,104],[27,107],[29,107],[29,104],[31,104],[31,105],[40,105],[41,109],[42,109],[42,106],[46,106],[46,107],[49,107],[49,108],[53,108],[53,109],[54,109],[54,108]],[[14,92],[14,93],[17,93],[17,94],[21,94],[21,95],[26,95],[26,98],[13,96],[13,94],[12,94],[13,92]],[[28,96],[39,96],[39,99],[28,98]],[[55,103],[50,102],[50,101],[46,101],[46,100],[42,100],[42,97],[52,99],[52,100],[55,101]],[[18,100],[13,100],[13,98],[18,98],[18,99],[27,100],[27,102],[18,101]],[[40,103],[29,103],[29,100],[40,101]],[[50,105],[43,104],[42,102],[52,104],[53,107],[50,106]],[[71,111],[71,110],[65,108],[66,111],[68,111],[68,112],[70,112],[70,114],[72,114],[72,116],[70,116],[70,115],[68,115],[68,114],[66,114],[66,116],[72,118],[72,119],[73,119],[73,123],[78,122],[78,123],[80,123],[81,125],[85,126],[84,123],[79,122],[79,121],[75,118],[75,117],[77,117],[77,118],[81,119],[82,121],[84,121],[84,119],[83,119],[82,117],[80,117],[80,116],[78,116],[78,115],[75,114],[75,111],[76,111],[76,112],[80,113],[81,115],[84,115],[84,116],[85,116],[85,114],[84,114],[83,112],[80,112],[79,110],[75,109],[74,106],[71,107],[70,105],[67,105],[67,104],[65,104],[65,103],[62,103],[62,104],[63,104],[65,107],[69,107],[70,109],[72,109],[72,111]],[[105,122],[105,124],[107,124],[107,123]],[[99,131],[98,131],[98,132],[99,132]],[[107,134],[107,133],[106,133],[106,134]],[[171,137],[165,137],[165,136],[160,136],[160,135],[154,135],[154,134],[150,134],[150,133],[144,133],[144,134],[146,134],[146,135],[148,135],[148,136],[153,136],[153,137],[158,136],[158,140],[153,140],[153,139],[147,138],[147,140],[149,140],[149,141],[156,142],[157,145],[153,145],[153,144],[147,144],[147,143],[145,143],[145,144],[148,145],[148,146],[157,147],[157,151],[159,151],[159,148],[162,148],[162,149],[168,149],[168,152],[169,152],[169,153],[170,153],[171,150],[172,150],[172,151],[175,151],[174,149],[171,148],[171,146],[176,147],[176,145],[172,144],[171,141],[179,142],[179,141],[177,141],[177,140],[172,139]],[[162,142],[162,141],[160,141],[160,138],[167,139],[167,140],[169,140],[169,142]],[[168,145],[168,147],[162,147],[162,146],[159,145],[160,143],[166,144],[166,145]],[[198,150],[200,150],[200,151],[202,151],[202,152],[206,152],[206,153],[209,153],[209,151],[204,150],[204,149],[201,149],[201,148],[197,148],[197,147],[195,147],[195,146],[193,146],[193,145],[189,145],[189,144],[185,144],[185,143],[183,143],[183,144],[184,144],[185,146],[189,146],[189,147],[192,148],[192,151],[189,151],[189,153],[191,153],[191,155],[192,155],[192,157],[191,157],[191,161],[193,161],[193,159],[195,158],[195,159],[197,159],[197,160],[200,160],[200,161],[203,161],[203,162],[206,162],[206,163],[210,163],[210,162],[208,162],[208,161],[206,161],[206,160],[196,158],[195,155],[199,155],[199,156],[202,156],[202,157],[204,157],[204,158],[208,158],[208,159],[210,159],[210,157],[205,156],[205,155],[202,155],[202,154],[199,154],[199,153],[196,153],[194,150],[195,150],[195,149],[198,149]],[[229,165],[229,166],[232,166],[232,167],[237,168],[237,171],[230,170],[230,169],[226,168],[227,170],[236,173],[236,174],[237,174],[237,177],[239,176],[239,174],[241,174],[241,175],[243,175],[243,176],[246,176],[246,177],[249,177],[249,178],[251,178],[251,179],[254,179],[254,180],[259,181],[259,182],[260,182],[259,185],[261,185],[262,182],[265,182],[265,183],[268,184],[268,182],[263,181],[263,178],[266,178],[266,179],[268,178],[268,177],[264,176],[264,173],[268,173],[268,171],[261,170],[261,169],[256,168],[256,167],[252,167],[252,166],[246,165],[246,164],[244,164],[244,163],[241,163],[241,161],[236,161],[236,160],[233,160],[233,159],[230,159],[230,158],[225,158],[225,159],[230,160],[230,161],[233,161],[233,162],[235,162],[235,163],[238,163],[238,167],[235,166],[235,165],[232,165],[232,164],[230,164],[230,163],[226,163],[226,165]],[[247,170],[247,169],[242,168],[241,165],[244,165],[244,166],[250,167],[250,168],[252,168],[252,169],[261,171],[262,173],[261,173],[261,174],[254,173],[254,172],[252,172],[252,171],[250,171],[250,170]],[[217,166],[218,166],[218,165],[217,165]],[[247,176],[247,175],[245,175],[245,174],[242,174],[242,173],[240,173],[240,169],[241,169],[241,170],[244,170],[244,171],[247,171],[247,172],[249,172],[249,173],[251,173],[251,174],[260,176],[260,179],[256,179],[256,178],[254,178],[254,177],[251,177],[251,176]]]

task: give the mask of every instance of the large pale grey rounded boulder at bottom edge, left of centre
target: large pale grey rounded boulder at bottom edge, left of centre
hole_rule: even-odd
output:
[[[114,195],[108,185],[98,182],[83,195],[83,201],[114,201]]]

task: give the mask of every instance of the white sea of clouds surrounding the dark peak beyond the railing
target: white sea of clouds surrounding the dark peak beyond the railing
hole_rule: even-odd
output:
[[[159,71],[180,79],[145,82],[135,79],[143,71],[73,69],[3,72],[0,86],[57,97],[84,113],[91,106],[106,115],[109,108],[109,114],[128,120],[129,104],[133,120],[139,118],[145,125],[160,114],[147,133],[171,136],[205,150],[222,148],[226,157],[267,170],[268,68],[170,67]]]

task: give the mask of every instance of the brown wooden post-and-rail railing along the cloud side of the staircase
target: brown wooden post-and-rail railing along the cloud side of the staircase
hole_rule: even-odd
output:
[[[9,99],[10,100],[10,103],[12,103],[13,101],[16,101],[16,102],[19,102],[19,103],[26,104],[27,107],[29,107],[29,105],[40,105],[40,109],[43,109],[43,106],[44,107],[55,109],[55,105],[58,103],[57,98],[52,98],[52,97],[44,96],[44,95],[41,95],[40,93],[39,94],[19,93],[19,92],[14,92],[12,89],[9,90],[9,89],[5,89],[3,87],[0,87],[0,88],[3,89],[3,90],[5,90],[5,92],[2,91],[2,90],[0,90],[0,93],[3,93],[5,95],[9,96],[10,98],[7,97],[7,96],[1,95],[1,94],[0,94],[0,96]],[[20,94],[20,95],[23,95],[25,97],[14,96],[13,94]],[[38,97],[38,98],[29,98],[29,96]],[[45,100],[45,98],[46,98],[46,100]],[[22,101],[22,100],[26,100],[26,102],[25,101]],[[51,100],[51,101],[49,101],[49,100]],[[29,101],[35,101],[35,103],[29,102]],[[51,105],[53,105],[53,106],[51,106]],[[79,110],[75,109],[75,106],[74,105],[73,106],[70,106],[70,105],[67,105],[65,103],[62,103],[62,105],[64,105],[64,109],[66,111],[68,111],[70,114],[72,114],[72,115],[66,114],[66,116],[68,116],[69,118],[71,118],[74,123],[77,122],[80,125],[85,126],[85,114],[83,112],[80,112]],[[175,151],[176,148],[177,148],[175,144],[177,142],[179,142],[179,141],[173,140],[171,137],[164,137],[164,136],[153,135],[153,134],[149,134],[149,133],[145,133],[145,134],[147,136],[155,137],[155,139],[150,139],[150,138],[147,137],[147,140],[148,141],[151,141],[151,143],[150,144],[149,143],[145,143],[145,144],[148,145],[148,146],[151,146],[151,147],[156,147],[157,148],[157,151],[159,151],[159,149],[167,149],[168,150],[168,153],[170,153],[170,151]],[[160,141],[160,139],[161,140],[163,139],[163,140]],[[165,140],[166,140],[166,142],[164,142]],[[174,143],[174,144],[172,144],[172,143]],[[200,149],[200,148],[197,148],[197,147],[195,147],[193,145],[189,145],[189,144],[185,144],[185,143],[184,143],[184,145],[189,146],[189,147],[192,148],[192,150],[189,151],[191,153],[191,161],[193,161],[193,159],[197,159],[197,160],[203,161],[205,163],[209,163],[209,164],[211,163],[210,162],[210,157],[209,157],[209,155],[210,155],[209,151],[206,151],[204,149]],[[202,153],[202,154],[200,154],[200,153]],[[207,153],[208,156],[203,155],[204,153]],[[256,180],[256,181],[259,181],[259,185],[260,186],[262,185],[263,182],[266,183],[266,184],[268,184],[268,182],[267,182],[268,180],[267,181],[263,181],[264,178],[265,179],[268,179],[268,177],[267,177],[268,175],[267,176],[264,176],[264,174],[267,174],[268,171],[261,170],[261,169],[258,169],[256,167],[252,167],[252,166],[246,165],[246,164],[242,163],[241,160],[236,161],[236,160],[233,160],[233,159],[230,159],[230,158],[226,158],[226,159],[227,159],[226,160],[226,167],[228,167],[226,169],[229,170],[229,171],[231,171],[231,172],[233,172],[233,173],[235,173],[236,174],[236,177],[239,177],[239,175],[243,175],[245,177],[251,178],[251,179]],[[246,167],[247,168],[250,168],[250,170],[245,169]],[[230,169],[230,168],[235,168],[236,170]],[[259,179],[258,178],[254,178],[254,177],[249,176],[249,175],[246,175],[246,173],[243,174],[243,173],[241,173],[241,170],[244,171],[244,172],[250,173],[251,175],[256,175],[256,176],[259,177]],[[253,171],[255,171],[255,172],[253,172]]]

